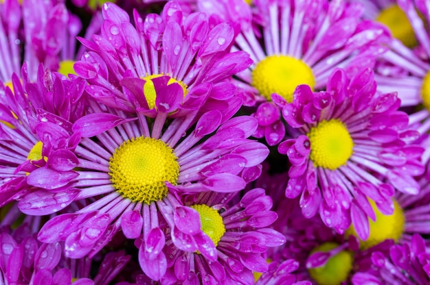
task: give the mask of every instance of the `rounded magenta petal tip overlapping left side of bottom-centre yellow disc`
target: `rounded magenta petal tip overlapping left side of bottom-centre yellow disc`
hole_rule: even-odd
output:
[[[174,209],[174,225],[184,234],[199,234],[201,232],[201,222],[199,212],[186,207],[179,206]]]

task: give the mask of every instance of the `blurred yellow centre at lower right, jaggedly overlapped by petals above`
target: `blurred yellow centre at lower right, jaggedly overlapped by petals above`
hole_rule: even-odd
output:
[[[400,208],[397,201],[394,200],[394,213],[391,215],[385,215],[379,212],[374,201],[370,200],[370,205],[372,205],[376,214],[376,221],[372,221],[370,218],[367,218],[370,223],[370,235],[367,240],[360,241],[360,246],[363,249],[368,249],[387,239],[392,239],[397,243],[405,229],[405,216],[403,215],[402,208]],[[351,234],[358,237],[353,225],[350,225],[348,230],[346,230],[346,238]]]

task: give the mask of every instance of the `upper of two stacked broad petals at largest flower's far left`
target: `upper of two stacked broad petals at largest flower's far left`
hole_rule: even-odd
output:
[[[32,171],[27,177],[27,183],[32,186],[51,190],[66,186],[66,184],[76,177],[78,177],[78,173],[74,171],[58,172],[43,167]]]

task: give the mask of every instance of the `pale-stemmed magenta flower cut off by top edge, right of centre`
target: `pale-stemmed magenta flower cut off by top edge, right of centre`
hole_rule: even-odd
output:
[[[254,136],[277,145],[284,138],[280,110],[271,102],[272,93],[293,100],[299,84],[321,90],[335,67],[354,74],[372,66],[384,49],[378,39],[384,29],[362,21],[361,5],[344,1],[198,1],[199,10],[238,29],[233,51],[247,51],[253,64],[237,75],[260,128]],[[261,103],[262,102],[262,103]]]

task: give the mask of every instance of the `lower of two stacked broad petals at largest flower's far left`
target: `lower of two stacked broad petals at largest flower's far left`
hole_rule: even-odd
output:
[[[69,206],[79,193],[80,190],[76,188],[69,188],[67,191],[58,193],[52,193],[47,190],[36,190],[25,195],[19,201],[18,207],[24,214],[34,216],[52,214]]]

